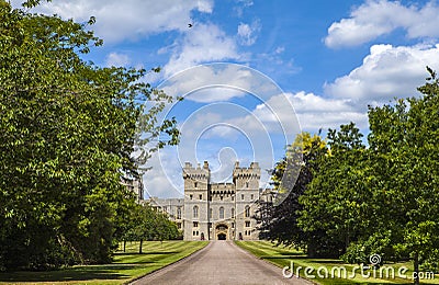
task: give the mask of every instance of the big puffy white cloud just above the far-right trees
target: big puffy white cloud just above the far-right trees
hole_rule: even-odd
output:
[[[426,66],[439,69],[439,45],[374,45],[360,67],[325,84],[325,92],[362,104],[386,103],[395,96],[416,95],[416,88],[427,77]]]

